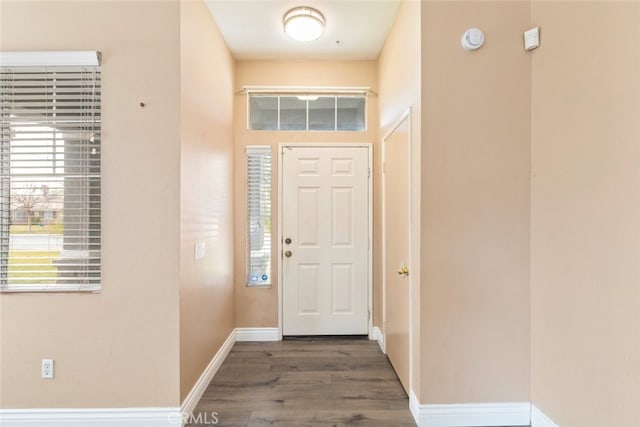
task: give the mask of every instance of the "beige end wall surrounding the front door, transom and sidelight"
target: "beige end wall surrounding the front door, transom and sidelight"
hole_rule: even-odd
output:
[[[278,285],[276,249],[278,218],[277,200],[277,146],[280,142],[365,142],[374,144],[378,138],[376,96],[367,98],[366,132],[297,132],[247,130],[246,95],[243,86],[370,86],[377,90],[375,61],[241,61],[237,63],[235,96],[235,283],[236,326],[277,327]],[[273,148],[272,215],[273,265],[272,285],[269,288],[246,286],[246,154],[247,145],[270,145]],[[374,191],[377,188],[374,182]],[[376,195],[374,195],[374,198]],[[374,218],[374,222],[375,222]],[[374,260],[375,264],[376,260]]]

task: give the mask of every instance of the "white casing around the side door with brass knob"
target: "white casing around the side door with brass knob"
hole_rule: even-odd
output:
[[[413,308],[412,308],[412,304],[411,304],[411,295],[413,294],[413,275],[411,274],[411,271],[413,270],[413,226],[412,226],[412,215],[413,215],[413,167],[412,165],[412,157],[413,157],[413,135],[412,135],[412,127],[411,127],[411,107],[407,108],[405,110],[404,113],[402,113],[402,115],[394,122],[393,126],[391,126],[391,128],[389,129],[389,131],[384,135],[384,137],[381,140],[381,156],[380,156],[380,170],[382,171],[382,188],[381,188],[381,200],[382,200],[382,206],[381,206],[381,210],[382,210],[382,215],[381,215],[381,219],[382,219],[382,335],[384,337],[383,341],[382,341],[382,351],[383,353],[387,354],[387,339],[386,339],[386,324],[387,324],[387,301],[386,301],[386,295],[387,295],[387,280],[386,280],[386,274],[387,274],[387,268],[386,268],[386,264],[387,264],[387,258],[386,258],[386,233],[387,233],[387,227],[386,227],[386,177],[385,177],[385,171],[384,171],[384,165],[385,165],[385,160],[386,160],[386,152],[385,152],[385,142],[387,139],[389,139],[389,137],[391,137],[391,135],[393,135],[393,133],[400,127],[400,125],[402,125],[402,123],[405,121],[405,119],[407,120],[407,126],[409,128],[408,134],[409,134],[409,141],[408,141],[408,147],[407,147],[407,173],[408,173],[408,185],[409,188],[407,188],[407,192],[409,194],[409,206],[408,206],[408,211],[409,211],[409,217],[407,218],[407,220],[409,221],[408,223],[408,265],[409,265],[409,276],[407,277],[407,279],[409,280],[409,298],[407,301],[408,307],[409,307],[409,312],[408,312],[408,316],[409,316],[409,390],[411,392],[413,392]]]

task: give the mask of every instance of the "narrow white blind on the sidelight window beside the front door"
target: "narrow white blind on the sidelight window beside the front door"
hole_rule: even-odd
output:
[[[247,284],[271,284],[271,147],[247,147]]]

